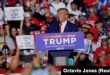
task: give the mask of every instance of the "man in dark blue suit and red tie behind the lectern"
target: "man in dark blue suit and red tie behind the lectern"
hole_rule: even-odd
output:
[[[57,11],[58,19],[51,22],[47,33],[58,33],[58,32],[77,32],[78,27],[68,21],[68,10],[66,8],[60,8]]]

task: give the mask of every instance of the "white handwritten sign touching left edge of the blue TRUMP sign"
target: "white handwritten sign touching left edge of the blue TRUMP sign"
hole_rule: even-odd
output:
[[[35,49],[33,35],[16,36],[16,41],[19,49]]]

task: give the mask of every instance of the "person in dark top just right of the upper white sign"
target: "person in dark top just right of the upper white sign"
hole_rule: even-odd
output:
[[[36,24],[31,23],[31,9],[26,7],[24,23],[21,25],[22,34],[30,34],[32,31],[37,31],[38,27]]]

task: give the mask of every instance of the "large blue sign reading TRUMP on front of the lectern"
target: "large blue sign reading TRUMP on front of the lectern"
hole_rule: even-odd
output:
[[[35,35],[35,46],[38,51],[84,49],[84,33],[47,33]]]

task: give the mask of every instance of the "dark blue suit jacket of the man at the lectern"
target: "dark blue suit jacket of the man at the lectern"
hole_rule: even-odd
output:
[[[67,21],[64,32],[77,32],[77,31],[78,31],[77,25]],[[58,32],[59,32],[59,22],[57,20],[53,20],[47,30],[47,33],[58,33]]]

